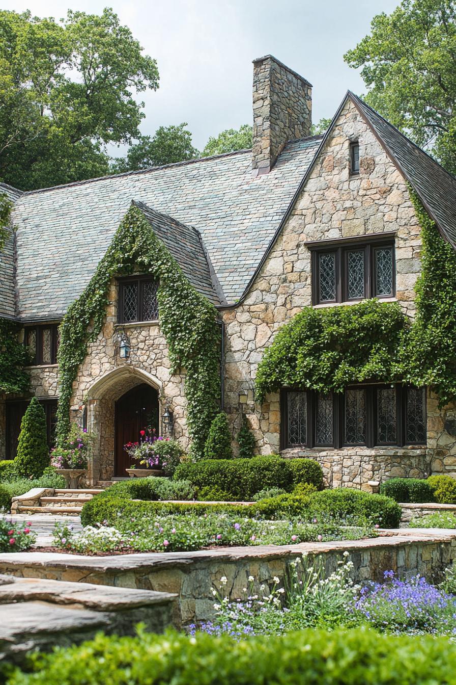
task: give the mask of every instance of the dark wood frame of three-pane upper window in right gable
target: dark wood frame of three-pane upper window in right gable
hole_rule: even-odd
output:
[[[341,302],[356,302],[362,299],[376,297],[377,299],[388,299],[396,296],[396,264],[394,252],[395,233],[382,234],[379,236],[360,236],[359,238],[340,238],[339,240],[320,240],[306,242],[306,247],[311,253],[312,268],[312,305],[332,304]],[[377,262],[376,251],[379,248],[388,247],[391,249],[392,260],[392,293],[389,295],[377,295]],[[364,297],[348,297],[348,267],[347,260],[349,252],[364,252]],[[335,258],[335,279],[336,297],[321,301],[320,293],[320,255],[323,253],[334,253]]]

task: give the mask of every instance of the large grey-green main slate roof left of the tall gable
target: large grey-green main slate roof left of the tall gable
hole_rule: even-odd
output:
[[[132,201],[200,232],[223,293],[220,300],[234,303],[320,140],[288,142],[273,170],[257,179],[252,179],[252,151],[243,150],[23,193],[12,215],[18,317],[64,314],[88,284]],[[205,277],[198,289],[207,287]]]

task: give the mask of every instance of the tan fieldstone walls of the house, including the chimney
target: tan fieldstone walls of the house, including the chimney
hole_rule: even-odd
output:
[[[305,79],[273,58],[254,62],[254,170],[267,171],[288,138],[308,134],[310,88]],[[295,101],[299,101],[299,107],[295,107]],[[282,114],[276,112],[276,107]],[[354,140],[360,149],[360,173],[356,176],[349,171],[350,142]],[[267,179],[258,173],[251,183],[262,184]],[[241,412],[247,415],[258,453],[276,453],[280,449],[280,398],[278,393],[271,393],[263,405],[255,403],[256,369],[280,326],[312,305],[311,253],[307,243],[382,234],[394,235],[395,242],[396,296],[391,299],[397,300],[403,312],[413,318],[422,247],[420,226],[403,175],[356,104],[347,99],[245,299],[219,310],[226,331],[224,408],[233,436],[241,425]],[[88,427],[97,436],[91,482],[112,476],[114,404],[137,384],[146,382],[157,390],[161,413],[169,404],[174,414],[174,437],[184,449],[189,447],[185,370],[172,374],[166,340],[158,322],[124,326],[116,323],[116,282],[111,284],[109,299],[105,325],[90,343],[71,402],[72,419],[79,420],[87,408]],[[118,354],[122,331],[128,334],[131,344],[127,360]],[[31,379],[36,395],[57,394],[55,366],[31,369]],[[242,407],[240,393],[247,395],[247,403]],[[0,405],[0,422],[1,416]],[[296,448],[286,450],[284,456],[317,459],[332,486],[367,488],[370,480],[395,475],[456,475],[455,408],[439,410],[438,399],[427,394],[425,448]]]

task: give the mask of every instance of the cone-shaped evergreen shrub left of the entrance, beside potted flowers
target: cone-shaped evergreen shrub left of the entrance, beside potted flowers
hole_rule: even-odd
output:
[[[49,464],[46,415],[38,399],[33,397],[21,421],[14,469],[18,475],[36,478]]]

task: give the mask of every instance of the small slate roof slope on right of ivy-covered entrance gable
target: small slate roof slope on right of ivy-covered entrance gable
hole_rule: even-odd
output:
[[[142,211],[155,235],[165,244],[192,286],[213,304],[220,304],[198,231],[172,216],[152,210],[144,202],[133,201],[133,204]]]

